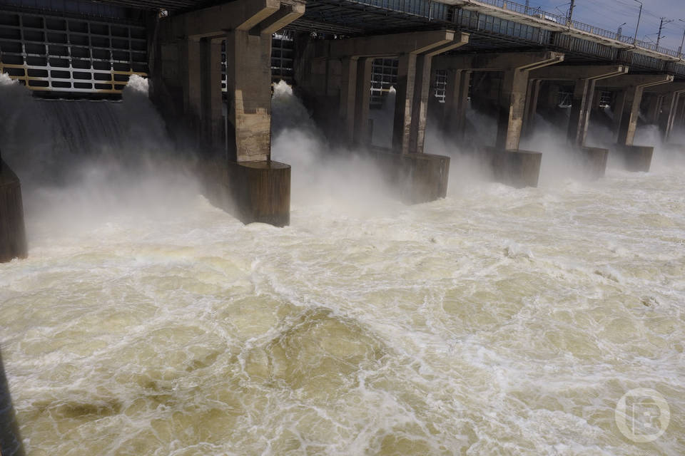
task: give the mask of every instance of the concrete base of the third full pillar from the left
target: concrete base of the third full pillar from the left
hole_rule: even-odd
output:
[[[486,147],[494,180],[514,188],[537,187],[542,153],[529,150],[502,150]]]

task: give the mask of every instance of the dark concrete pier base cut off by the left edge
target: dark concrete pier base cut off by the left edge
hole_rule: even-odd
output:
[[[0,263],[27,254],[21,182],[0,160]]]

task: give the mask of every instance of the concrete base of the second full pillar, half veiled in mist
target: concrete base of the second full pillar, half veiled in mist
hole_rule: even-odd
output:
[[[397,187],[405,204],[431,202],[447,196],[450,157],[379,151],[377,160],[387,182]]]

